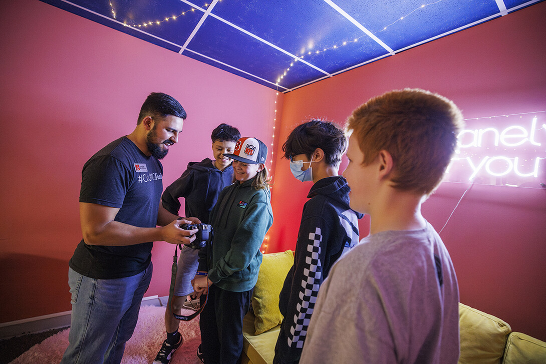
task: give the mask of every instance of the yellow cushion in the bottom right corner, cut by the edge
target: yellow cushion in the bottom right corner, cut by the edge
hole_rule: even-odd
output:
[[[506,344],[504,364],[546,363],[546,343],[521,332],[512,332]]]

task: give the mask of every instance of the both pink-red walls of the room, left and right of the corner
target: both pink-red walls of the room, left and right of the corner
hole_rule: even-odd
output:
[[[275,92],[266,87],[48,4],[2,4],[0,322],[70,309],[67,262],[81,238],[81,167],[98,148],[133,130],[149,92],[172,94],[189,115],[179,145],[164,159],[167,186],[187,162],[209,156],[208,135],[220,122],[270,143],[275,108],[282,119],[276,156],[295,124],[309,117],[342,123],[356,106],[393,88],[444,94],[467,118],[546,110],[544,16],[546,3],[533,5],[280,95],[275,104]],[[311,187],[293,179],[286,160],[275,159],[274,168],[268,252],[293,248]],[[424,204],[437,229],[466,187],[445,183]],[[545,194],[475,185],[442,232],[461,301],[543,340]],[[361,222],[362,236],[368,224]],[[172,253],[156,243],[147,296],[167,295]]]

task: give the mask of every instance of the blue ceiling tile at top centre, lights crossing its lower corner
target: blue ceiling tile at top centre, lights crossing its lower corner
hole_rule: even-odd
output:
[[[237,0],[230,1],[229,7],[218,3],[213,13],[328,73],[385,53],[323,1]]]

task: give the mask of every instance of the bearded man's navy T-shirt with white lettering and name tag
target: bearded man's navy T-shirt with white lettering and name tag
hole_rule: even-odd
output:
[[[91,157],[81,172],[80,202],[116,207],[115,220],[155,228],[163,190],[163,166],[122,137]],[[129,246],[87,245],[81,240],[69,266],[86,277],[115,279],[145,270],[153,242]]]

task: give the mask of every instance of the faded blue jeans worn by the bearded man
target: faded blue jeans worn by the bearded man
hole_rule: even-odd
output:
[[[150,285],[152,263],[138,275],[94,279],[69,268],[72,323],[62,364],[120,363],[133,335],[140,302]]]

